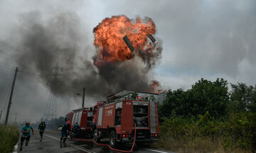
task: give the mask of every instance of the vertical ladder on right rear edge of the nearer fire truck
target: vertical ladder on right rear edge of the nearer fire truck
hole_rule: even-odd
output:
[[[158,123],[158,118],[156,115],[156,102],[155,101],[150,101],[150,114],[151,114],[151,133],[156,133],[156,126]]]

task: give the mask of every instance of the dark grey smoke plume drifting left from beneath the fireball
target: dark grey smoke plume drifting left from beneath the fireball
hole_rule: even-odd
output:
[[[47,21],[41,20],[40,13],[31,12],[21,17],[19,34],[21,45],[16,60],[18,65],[29,71],[36,71],[48,89],[54,89],[59,96],[73,95],[85,86],[89,96],[107,96],[122,90],[149,91],[149,71],[161,58],[161,42],[156,44],[156,52],[137,51],[132,60],[107,63],[95,67],[81,52],[86,43],[85,29],[75,13],[60,13]],[[89,48],[97,50],[96,48]],[[95,59],[97,57],[95,51]],[[137,56],[141,58],[137,58]],[[49,81],[50,68],[63,68],[65,78],[56,83]]]

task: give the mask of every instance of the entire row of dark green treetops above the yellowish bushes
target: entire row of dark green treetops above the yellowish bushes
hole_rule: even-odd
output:
[[[169,117],[198,117],[210,113],[214,118],[226,118],[230,113],[256,113],[256,86],[244,83],[230,84],[228,81],[201,79],[191,89],[167,91],[163,105],[159,106],[159,115]]]

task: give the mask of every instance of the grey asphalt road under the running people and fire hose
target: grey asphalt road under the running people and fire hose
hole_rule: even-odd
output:
[[[107,142],[102,142],[107,143]],[[18,142],[18,149],[19,149]],[[122,149],[129,150],[131,146],[124,146]],[[19,151],[18,151],[19,152]],[[49,152],[49,153],[83,153],[83,152],[92,152],[92,153],[101,153],[101,152],[113,152],[111,149],[105,146],[95,145],[93,142],[81,142],[69,140],[65,143],[60,142],[60,132],[58,131],[48,131],[46,130],[44,133],[44,137],[42,142],[40,141],[40,135],[38,131],[35,131],[35,135],[31,137],[30,142],[28,143],[28,147],[25,147],[25,142],[23,144],[23,153],[34,152]],[[166,152],[159,149],[151,149],[151,148],[140,148],[136,147],[133,152],[137,153],[173,153]]]

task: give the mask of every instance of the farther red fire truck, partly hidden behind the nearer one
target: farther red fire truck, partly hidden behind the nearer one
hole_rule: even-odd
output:
[[[79,108],[66,115],[67,124],[73,130],[75,123],[80,126],[79,136],[88,136],[92,134],[92,108]]]

